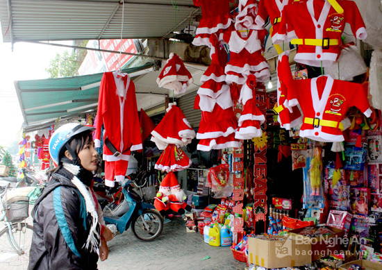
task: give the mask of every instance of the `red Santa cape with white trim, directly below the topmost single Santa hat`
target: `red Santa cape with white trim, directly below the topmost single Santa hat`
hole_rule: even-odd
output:
[[[175,102],[169,103],[166,111],[165,117],[151,131],[151,141],[155,142],[159,150],[164,150],[167,144],[186,146],[196,136],[195,131]]]

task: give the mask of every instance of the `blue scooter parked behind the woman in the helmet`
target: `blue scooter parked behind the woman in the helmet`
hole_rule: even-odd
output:
[[[118,205],[109,203],[103,208],[105,223],[114,224],[119,233],[131,226],[135,237],[142,241],[156,239],[163,230],[163,218],[159,212],[133,191],[133,181],[130,179],[122,184],[122,194],[124,199]]]

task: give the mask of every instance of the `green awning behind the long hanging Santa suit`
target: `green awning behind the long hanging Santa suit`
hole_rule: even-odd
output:
[[[123,69],[136,78],[155,71],[154,63]],[[97,109],[99,84],[103,73],[67,78],[15,81],[24,131],[38,130],[56,119],[75,117]]]

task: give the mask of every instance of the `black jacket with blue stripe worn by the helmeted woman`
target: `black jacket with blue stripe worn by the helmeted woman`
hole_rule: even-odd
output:
[[[66,171],[66,170],[65,170]],[[97,253],[83,248],[88,237],[86,208],[76,186],[58,171],[33,208],[28,269],[97,269]]]

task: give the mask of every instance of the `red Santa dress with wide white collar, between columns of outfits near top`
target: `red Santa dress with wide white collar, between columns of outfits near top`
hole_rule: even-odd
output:
[[[269,65],[261,54],[266,30],[248,32],[232,31],[224,34],[229,43],[229,62],[226,65],[226,82],[243,85],[249,74],[254,74],[257,81],[269,81]]]

